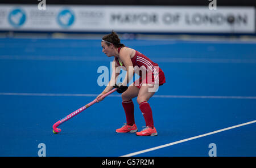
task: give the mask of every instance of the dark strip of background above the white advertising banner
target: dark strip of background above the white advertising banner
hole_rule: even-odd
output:
[[[0,0],[0,3],[39,3],[38,0]],[[46,0],[47,4],[207,6],[209,0]],[[217,0],[217,6],[256,6],[255,0]]]

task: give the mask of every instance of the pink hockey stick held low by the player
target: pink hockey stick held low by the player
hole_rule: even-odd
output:
[[[111,94],[111,93],[113,93],[113,92],[115,92],[115,91],[117,91],[116,88],[115,88],[115,89],[112,89],[112,91],[109,91],[108,93],[104,94],[104,95],[102,96],[102,98],[108,96],[109,94]],[[60,124],[63,124],[63,123],[66,122],[67,120],[69,120],[69,119],[75,117],[77,114],[81,113],[82,111],[84,111],[84,110],[87,109],[88,107],[92,106],[92,105],[95,104],[96,102],[97,102],[97,99],[93,100],[92,102],[90,102],[89,104],[87,104],[87,105],[85,105],[85,106],[82,106],[80,109],[78,109],[78,110],[74,111],[73,113],[67,115],[67,116],[64,117],[63,119],[57,121],[57,122],[56,122],[55,124],[53,124],[53,126],[52,126],[52,128],[53,128],[52,132],[53,132],[53,133],[59,133],[59,132],[61,131],[61,129],[60,129],[60,128],[57,128],[57,127],[58,127]]]

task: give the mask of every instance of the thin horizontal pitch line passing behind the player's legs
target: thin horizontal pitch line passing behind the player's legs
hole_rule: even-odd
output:
[[[72,93],[8,93],[2,92],[4,96],[73,96],[73,97],[97,97],[98,94],[72,94]],[[109,97],[121,97],[121,94],[110,94]],[[175,96],[158,95],[153,98],[212,98],[212,99],[256,99],[256,96]]]

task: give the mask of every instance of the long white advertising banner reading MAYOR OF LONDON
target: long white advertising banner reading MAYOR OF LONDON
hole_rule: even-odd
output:
[[[1,5],[2,31],[255,33],[254,7]]]

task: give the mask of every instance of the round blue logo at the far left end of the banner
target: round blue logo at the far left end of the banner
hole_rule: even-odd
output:
[[[10,12],[8,21],[13,27],[20,27],[26,21],[26,14],[20,8],[16,8]]]

